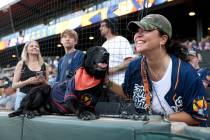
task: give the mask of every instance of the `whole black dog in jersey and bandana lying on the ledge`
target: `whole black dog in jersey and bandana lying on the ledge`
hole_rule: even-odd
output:
[[[95,105],[104,91],[108,62],[106,49],[100,46],[88,49],[81,67],[70,80],[56,83],[52,88],[44,84],[31,89],[23,98],[20,108],[8,116],[23,114],[32,118],[57,113],[76,114],[82,120],[97,119]]]

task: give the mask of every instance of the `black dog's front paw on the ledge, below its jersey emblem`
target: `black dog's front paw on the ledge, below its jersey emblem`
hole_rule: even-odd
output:
[[[78,118],[81,120],[96,120],[99,116],[90,111],[82,111],[79,113]]]

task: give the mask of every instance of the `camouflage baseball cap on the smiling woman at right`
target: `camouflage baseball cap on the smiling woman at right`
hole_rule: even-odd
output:
[[[160,30],[172,37],[172,26],[170,21],[160,14],[149,14],[140,21],[131,21],[128,23],[128,30],[136,32],[139,28],[144,30]]]

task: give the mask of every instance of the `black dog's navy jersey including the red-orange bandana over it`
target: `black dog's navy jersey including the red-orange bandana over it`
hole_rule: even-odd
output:
[[[80,68],[70,80],[53,86],[52,100],[63,113],[68,113],[63,104],[69,98],[76,98],[86,107],[95,106],[100,96],[100,91],[97,90],[100,83],[101,80],[87,75],[84,68]]]

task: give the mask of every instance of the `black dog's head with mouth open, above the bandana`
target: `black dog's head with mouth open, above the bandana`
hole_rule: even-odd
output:
[[[102,79],[108,73],[109,53],[103,47],[96,46],[87,50],[83,67],[87,73],[97,79]]]

